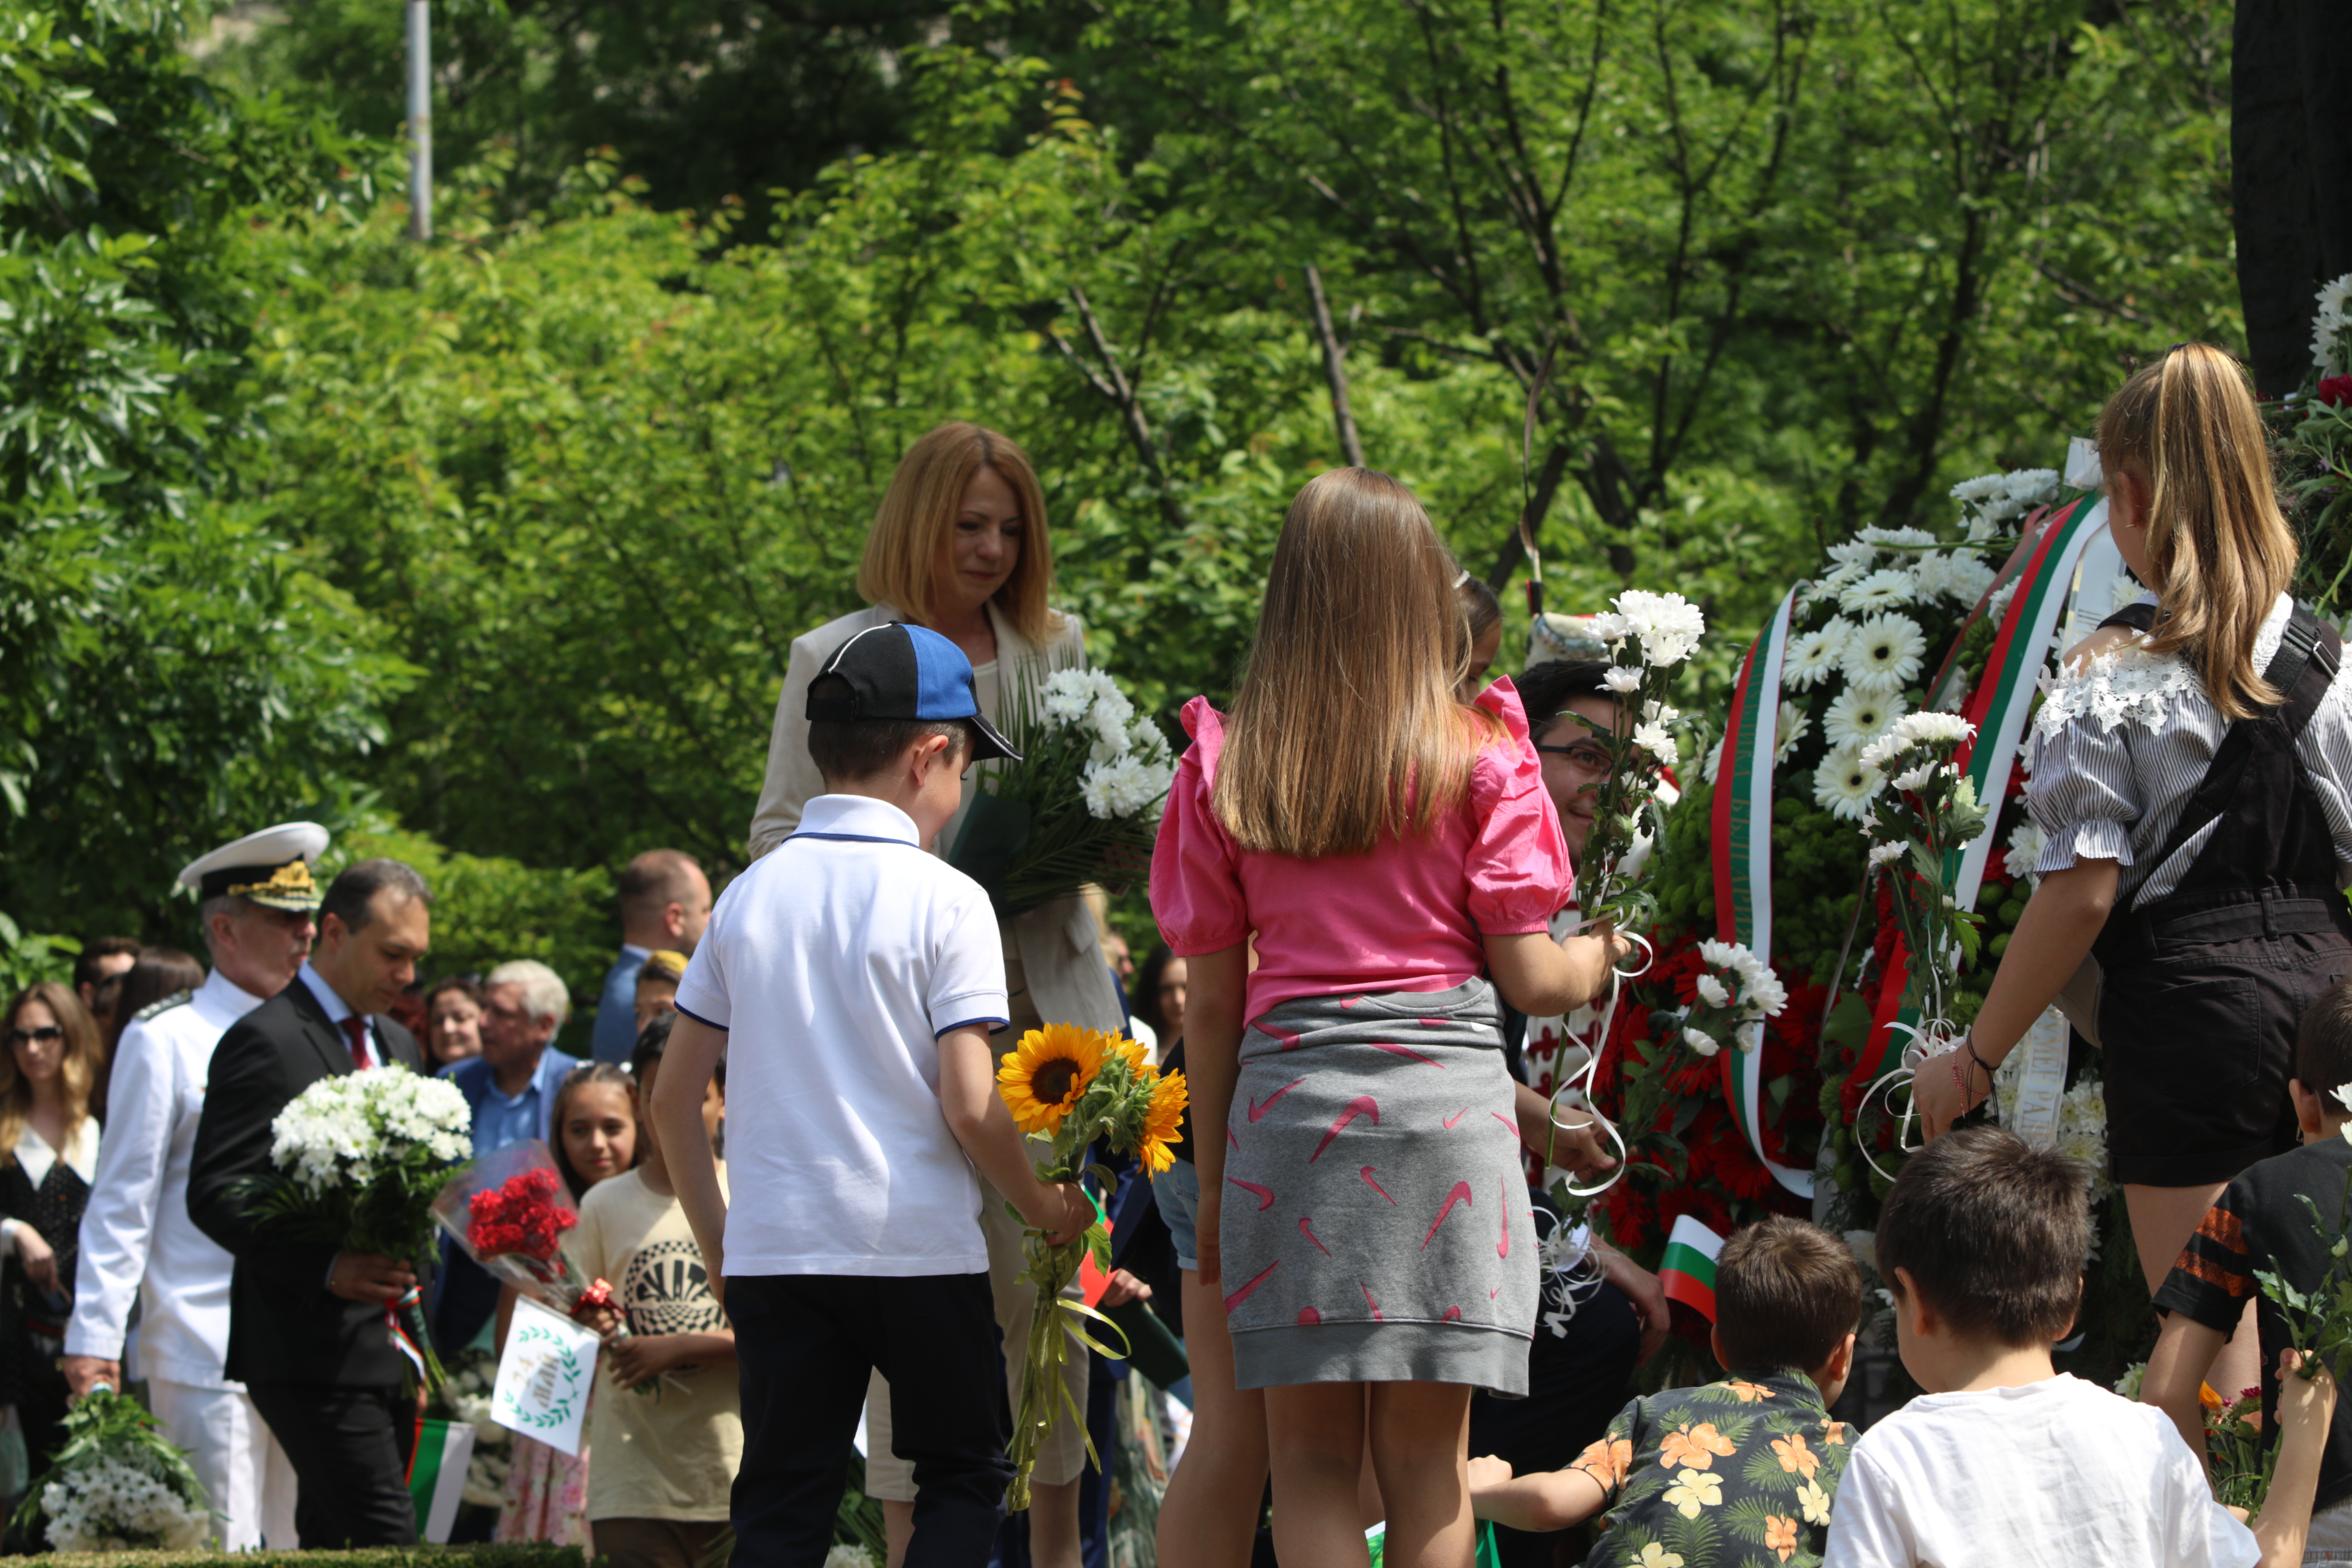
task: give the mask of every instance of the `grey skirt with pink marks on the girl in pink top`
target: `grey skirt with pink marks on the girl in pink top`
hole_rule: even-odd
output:
[[[1526,1392],[1536,1222],[1501,1006],[1298,997],[1242,1034],[1218,1222],[1235,1382]]]

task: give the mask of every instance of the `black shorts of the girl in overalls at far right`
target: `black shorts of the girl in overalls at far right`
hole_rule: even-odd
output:
[[[2176,922],[2107,964],[2098,1034],[2117,1182],[2204,1187],[2296,1147],[2296,1030],[2352,976],[2352,940],[2336,929],[2246,936],[2249,919],[2260,922]]]

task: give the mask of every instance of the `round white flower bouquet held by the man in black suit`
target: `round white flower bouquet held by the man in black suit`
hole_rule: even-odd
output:
[[[306,1241],[423,1260],[433,1251],[433,1199],[473,1159],[473,1112],[456,1084],[402,1067],[320,1079],[270,1121],[275,1175],[249,1182],[254,1218]],[[388,1328],[447,1406],[447,1378],[409,1291]]]

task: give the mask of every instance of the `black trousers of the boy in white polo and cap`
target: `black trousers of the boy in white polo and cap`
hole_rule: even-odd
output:
[[[988,1563],[1014,1474],[988,1274],[741,1274],[727,1316],[743,1368],[734,1563],[823,1568],[873,1368],[922,1394],[891,1406],[891,1446],[915,1465],[906,1568]]]

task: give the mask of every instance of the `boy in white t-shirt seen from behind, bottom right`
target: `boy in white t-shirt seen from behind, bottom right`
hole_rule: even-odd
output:
[[[1905,1161],[1877,1255],[1919,1399],[1853,1443],[1825,1568],[2251,1568],[2303,1556],[2336,1385],[2288,1375],[2253,1530],[2161,1410],[2058,1373],[2091,1251],[2086,1173],[1990,1126]]]

